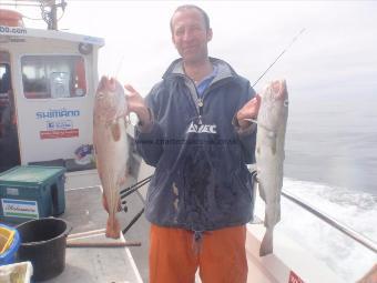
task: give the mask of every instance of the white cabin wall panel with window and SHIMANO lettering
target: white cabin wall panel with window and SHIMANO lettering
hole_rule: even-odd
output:
[[[22,164],[75,158],[92,143],[91,69],[79,54],[23,54],[16,97]]]

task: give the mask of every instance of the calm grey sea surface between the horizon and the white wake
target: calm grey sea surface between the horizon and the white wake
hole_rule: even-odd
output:
[[[291,98],[284,165],[286,176],[377,196],[377,95]]]

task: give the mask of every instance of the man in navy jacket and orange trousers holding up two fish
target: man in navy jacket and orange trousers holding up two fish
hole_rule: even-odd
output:
[[[181,58],[145,102],[131,87],[136,143],[155,166],[146,195],[151,224],[150,282],[246,282],[245,223],[253,213],[255,118],[259,99],[224,61],[210,58],[212,29],[196,6],[171,19]]]

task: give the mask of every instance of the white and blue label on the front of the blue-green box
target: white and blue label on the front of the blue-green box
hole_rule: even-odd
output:
[[[6,218],[38,219],[35,201],[1,199],[2,212]]]

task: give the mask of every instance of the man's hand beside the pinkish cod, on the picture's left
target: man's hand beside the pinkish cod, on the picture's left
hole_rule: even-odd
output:
[[[151,117],[147,107],[145,105],[144,99],[134,88],[130,84],[125,84],[124,88],[129,91],[126,94],[129,113],[134,112],[143,128],[147,128],[151,124]]]

